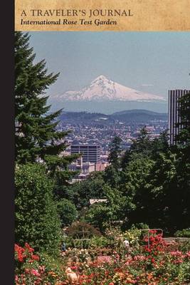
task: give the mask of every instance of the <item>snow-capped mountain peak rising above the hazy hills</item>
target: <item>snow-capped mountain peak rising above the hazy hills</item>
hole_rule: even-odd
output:
[[[161,96],[143,93],[122,86],[119,83],[107,79],[105,76],[98,76],[90,83],[90,86],[86,86],[82,90],[67,91],[62,95],[53,97],[54,100],[65,101],[164,101],[164,98]]]

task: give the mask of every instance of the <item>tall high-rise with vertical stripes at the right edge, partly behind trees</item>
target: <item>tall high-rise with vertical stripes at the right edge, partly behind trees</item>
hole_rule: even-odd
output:
[[[190,93],[190,90],[169,90],[169,100],[168,100],[168,129],[169,129],[169,144],[175,144],[176,135],[179,134],[182,126],[177,126],[176,124],[181,123],[181,118],[179,115],[179,98],[185,94]]]

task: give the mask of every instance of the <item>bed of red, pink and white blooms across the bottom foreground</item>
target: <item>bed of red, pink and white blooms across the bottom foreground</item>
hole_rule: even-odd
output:
[[[60,267],[52,271],[28,244],[24,248],[16,246],[16,285],[72,284],[72,274],[73,284],[81,285],[189,284],[189,245],[166,243],[160,234],[150,234],[149,244],[148,237],[144,237],[140,247],[113,249],[103,258],[93,258],[88,250],[75,249],[75,259],[63,257]]]

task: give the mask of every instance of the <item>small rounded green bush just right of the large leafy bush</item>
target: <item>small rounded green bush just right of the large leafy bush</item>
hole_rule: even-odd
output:
[[[57,207],[62,227],[68,226],[76,220],[78,214],[77,209],[75,208],[75,204],[68,199],[60,199],[60,201],[57,202]]]

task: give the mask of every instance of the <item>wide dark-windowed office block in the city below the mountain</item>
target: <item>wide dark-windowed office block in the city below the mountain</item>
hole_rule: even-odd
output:
[[[100,162],[100,145],[71,145],[70,152],[81,153],[83,162]]]

